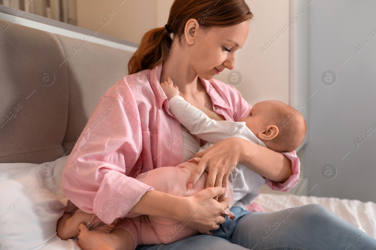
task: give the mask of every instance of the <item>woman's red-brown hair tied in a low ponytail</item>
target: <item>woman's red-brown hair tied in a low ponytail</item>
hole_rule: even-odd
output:
[[[183,37],[185,24],[195,18],[199,25],[232,26],[252,19],[253,14],[244,0],[175,0],[167,26],[147,31],[136,52],[129,59],[129,75],[151,69],[168,57],[172,45],[170,33]],[[179,39],[180,40],[180,39]]]

